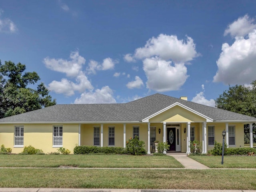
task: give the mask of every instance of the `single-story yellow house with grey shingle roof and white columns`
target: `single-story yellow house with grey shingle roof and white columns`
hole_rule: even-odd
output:
[[[44,152],[76,145],[126,147],[138,136],[150,154],[152,142],[168,142],[170,151],[190,153],[190,140],[202,142],[202,153],[222,142],[226,130],[229,147],[244,147],[244,124],[256,118],[154,94],[123,104],[57,104],[0,119],[0,145],[22,152],[32,145]]]

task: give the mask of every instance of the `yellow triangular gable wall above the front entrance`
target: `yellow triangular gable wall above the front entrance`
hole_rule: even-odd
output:
[[[150,122],[205,122],[206,119],[180,106],[174,106],[150,118]]]

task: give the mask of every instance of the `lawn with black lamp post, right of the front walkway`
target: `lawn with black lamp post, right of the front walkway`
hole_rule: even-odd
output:
[[[210,168],[256,168],[256,156],[189,156]]]

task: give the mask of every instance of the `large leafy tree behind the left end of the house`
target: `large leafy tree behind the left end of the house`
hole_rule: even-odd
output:
[[[31,88],[40,77],[25,70],[24,64],[11,61],[2,64],[0,60],[0,118],[56,104],[43,83]]]

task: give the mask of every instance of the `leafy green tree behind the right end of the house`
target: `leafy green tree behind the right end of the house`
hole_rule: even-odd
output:
[[[256,80],[251,86],[236,85],[229,87],[215,100],[217,108],[256,117]],[[252,125],[254,142],[256,142],[256,124]],[[249,143],[249,125],[244,126],[244,142]]]

